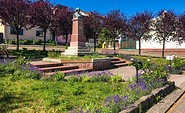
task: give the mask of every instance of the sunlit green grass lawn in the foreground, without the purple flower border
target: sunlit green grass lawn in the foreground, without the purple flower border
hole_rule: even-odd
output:
[[[14,80],[0,78],[0,112],[69,112],[101,106],[108,96],[124,94],[123,83]]]

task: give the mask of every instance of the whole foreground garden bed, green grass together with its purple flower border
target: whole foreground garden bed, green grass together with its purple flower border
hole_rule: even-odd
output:
[[[42,79],[23,58],[4,62],[0,64],[0,112],[118,113],[167,84],[165,71],[151,67],[149,62],[144,65],[148,68],[136,83],[123,82],[119,75],[103,71],[70,78],[57,72],[50,79]]]

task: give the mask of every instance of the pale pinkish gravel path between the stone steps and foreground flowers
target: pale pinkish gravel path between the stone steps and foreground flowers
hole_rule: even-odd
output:
[[[132,79],[132,77],[136,75],[136,70],[134,66],[124,66],[115,69],[110,69],[108,71],[113,74],[120,75],[125,80]]]

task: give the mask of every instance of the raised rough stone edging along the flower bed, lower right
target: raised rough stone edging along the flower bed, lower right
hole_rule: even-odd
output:
[[[149,95],[141,97],[134,104],[130,105],[126,110],[121,111],[120,113],[142,113],[146,112],[150,107],[155,103],[159,102],[163,97],[170,94],[175,89],[175,83],[172,82],[161,88],[153,90]],[[153,112],[153,113],[156,113]],[[162,112],[161,112],[162,113]]]

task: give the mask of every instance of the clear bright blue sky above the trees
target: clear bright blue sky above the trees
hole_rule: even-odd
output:
[[[173,10],[177,14],[185,12],[185,0],[51,0],[54,4],[61,4],[69,8],[79,7],[84,11],[97,11],[103,15],[120,9],[126,16],[145,10],[157,13],[161,9]]]

